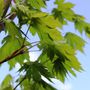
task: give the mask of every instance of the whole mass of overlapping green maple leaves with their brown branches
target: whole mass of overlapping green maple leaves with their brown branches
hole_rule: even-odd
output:
[[[69,73],[76,76],[75,71],[83,70],[76,53],[78,50],[83,52],[85,41],[71,32],[63,36],[61,30],[70,21],[75,29],[89,37],[89,23],[72,10],[74,4],[64,0],[55,0],[57,7],[53,8],[51,14],[43,12],[41,8],[47,8],[47,1],[12,0],[14,6],[9,3],[9,13],[6,11],[4,15],[5,2],[0,0],[0,32],[6,34],[0,47],[0,65],[7,62],[9,69],[13,70],[17,63],[20,64],[20,75],[16,82],[11,75],[7,75],[0,90],[17,90],[18,86],[20,90],[55,90],[42,77],[50,82],[51,78],[64,82]],[[18,19],[18,24],[14,18]],[[27,30],[22,29],[24,25],[28,27]],[[30,42],[32,38],[28,37],[28,33],[38,35],[39,41]],[[41,54],[37,60],[31,61],[29,53],[34,47]]]

